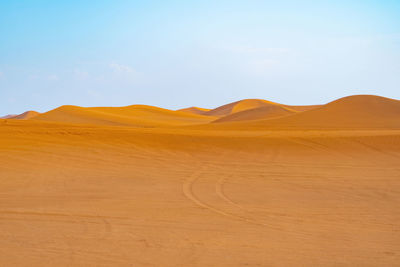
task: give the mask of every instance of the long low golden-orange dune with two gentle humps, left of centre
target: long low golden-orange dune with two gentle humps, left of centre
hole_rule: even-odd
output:
[[[152,106],[133,105],[95,108],[62,106],[33,119],[97,125],[165,127],[207,123],[214,118]]]

